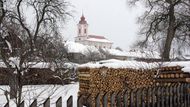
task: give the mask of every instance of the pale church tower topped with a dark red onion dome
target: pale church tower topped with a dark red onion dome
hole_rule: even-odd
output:
[[[77,26],[78,26],[78,36],[75,38],[75,41],[83,42],[88,37],[88,23],[85,20],[84,15],[81,16]]]

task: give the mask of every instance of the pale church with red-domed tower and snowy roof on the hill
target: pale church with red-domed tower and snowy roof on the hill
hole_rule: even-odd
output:
[[[85,20],[84,15],[81,16],[78,23],[78,36],[75,37],[75,42],[88,46],[95,46],[96,48],[112,48],[112,42],[106,39],[104,36],[89,35],[88,23]]]

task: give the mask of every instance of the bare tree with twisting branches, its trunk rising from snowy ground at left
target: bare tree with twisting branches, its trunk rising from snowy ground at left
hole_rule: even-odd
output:
[[[0,51],[17,107],[28,68],[41,61],[56,66],[65,61],[58,26],[70,15],[68,6],[65,0],[0,0]]]

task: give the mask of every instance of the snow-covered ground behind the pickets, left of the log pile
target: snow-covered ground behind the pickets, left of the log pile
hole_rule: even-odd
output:
[[[9,91],[8,86],[0,86],[0,107],[6,104],[6,97],[4,96],[5,90]],[[72,95],[74,107],[77,107],[77,93],[79,90],[79,83],[70,85],[27,85],[23,87],[23,99],[25,106],[29,107],[29,104],[37,98],[38,107],[42,107],[43,102],[48,97],[50,98],[51,107],[55,107],[56,100],[62,96],[63,107],[66,107],[67,99]],[[10,107],[16,107],[14,100],[11,100]]]

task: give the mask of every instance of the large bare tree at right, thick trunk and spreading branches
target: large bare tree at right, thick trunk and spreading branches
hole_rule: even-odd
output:
[[[163,43],[162,59],[170,60],[174,42],[183,41],[181,43],[189,45],[189,0],[129,0],[131,4],[139,1],[145,3],[147,11],[139,18],[143,25],[140,33],[145,36],[138,45],[147,47],[149,42]]]

